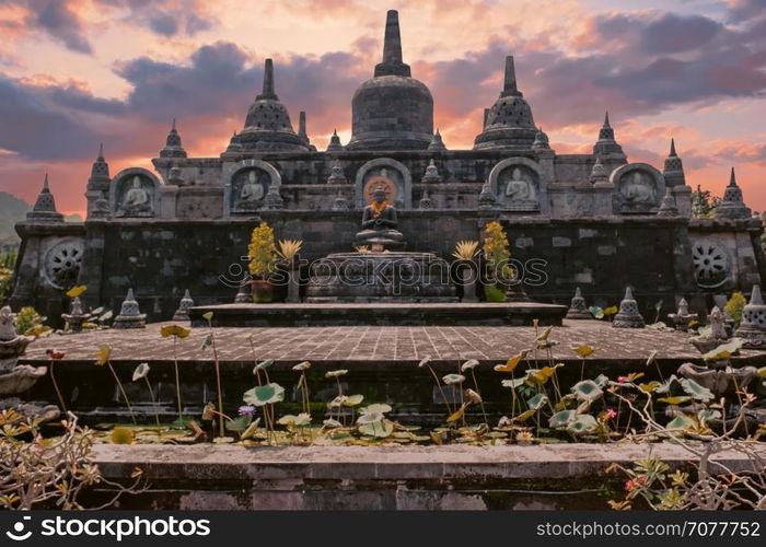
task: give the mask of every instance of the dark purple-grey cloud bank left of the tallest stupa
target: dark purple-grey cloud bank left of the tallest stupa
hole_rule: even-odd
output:
[[[310,133],[346,126],[353,90],[368,75],[369,67],[358,69],[358,62],[346,53],[277,60],[277,92],[293,126],[299,109],[309,113]],[[224,42],[200,47],[183,66],[142,57],[116,72],[132,86],[124,101],[100,98],[71,84],[0,77],[0,119],[14,128],[0,131],[0,148],[31,160],[84,160],[104,140],[109,154],[152,156],[174,117],[187,144],[239,130],[263,85],[263,62],[253,63]]]

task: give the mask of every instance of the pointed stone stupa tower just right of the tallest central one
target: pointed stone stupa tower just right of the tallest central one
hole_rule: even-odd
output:
[[[474,150],[529,150],[536,136],[532,108],[519,91],[513,56],[509,55],[500,97],[485,110],[484,130],[476,137]]]

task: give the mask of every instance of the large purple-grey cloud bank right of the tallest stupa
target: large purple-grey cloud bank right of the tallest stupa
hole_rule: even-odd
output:
[[[498,38],[462,59],[425,65],[444,112],[460,116],[490,106],[503,57],[515,56],[520,89],[546,127],[617,119],[681,104],[715,104],[766,93],[764,22],[724,27],[699,15],[665,12],[602,14],[588,21],[576,55],[541,49],[534,38]],[[509,34],[513,30],[509,30]]]

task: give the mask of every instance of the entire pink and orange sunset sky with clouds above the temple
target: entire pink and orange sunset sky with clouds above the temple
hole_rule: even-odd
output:
[[[448,148],[471,148],[503,59],[558,153],[590,152],[608,109],[630,161],[721,195],[732,165],[766,209],[766,0],[0,0],[0,190],[84,209],[98,143],[112,174],[151,167],[173,117],[217,156],[275,59],[293,127],[350,137],[351,95],[397,9],[404,60],[431,90]]]

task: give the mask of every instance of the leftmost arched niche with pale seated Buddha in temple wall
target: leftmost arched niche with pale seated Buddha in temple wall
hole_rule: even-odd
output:
[[[149,170],[128,167],[109,184],[109,206],[115,218],[158,217],[163,183]]]

